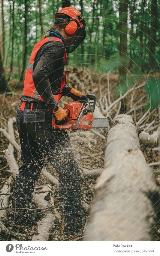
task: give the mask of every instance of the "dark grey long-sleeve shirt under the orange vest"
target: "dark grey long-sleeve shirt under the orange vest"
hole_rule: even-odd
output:
[[[59,94],[61,87],[65,65],[64,53],[65,47],[61,42],[50,41],[41,46],[35,56],[32,74],[33,81],[38,94],[49,109],[55,109],[57,106],[53,95]],[[71,87],[65,84],[61,93],[63,96],[69,96],[73,100],[78,100],[79,97],[70,93],[70,90]],[[36,98],[25,95],[21,97],[21,100],[33,103],[38,101]]]

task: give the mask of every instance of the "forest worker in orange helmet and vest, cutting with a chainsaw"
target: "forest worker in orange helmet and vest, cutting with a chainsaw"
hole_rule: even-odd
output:
[[[13,208],[16,224],[32,223],[29,208],[35,182],[47,159],[59,173],[60,199],[64,202],[64,232],[83,229],[85,213],[81,205],[79,171],[69,136],[53,130],[54,117],[64,121],[67,113],[58,101],[62,96],[85,102],[86,96],[65,84],[66,51],[73,52],[85,39],[85,21],[74,7],[66,7],[54,16],[48,36],[35,44],[24,79],[23,95],[17,110],[23,165],[14,184]],[[20,209],[21,208],[21,209]]]

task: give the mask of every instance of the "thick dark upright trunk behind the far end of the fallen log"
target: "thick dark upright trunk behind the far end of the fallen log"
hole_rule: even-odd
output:
[[[128,0],[119,2],[119,33],[120,33],[120,61],[119,74],[125,79],[127,73],[127,13],[128,13]]]

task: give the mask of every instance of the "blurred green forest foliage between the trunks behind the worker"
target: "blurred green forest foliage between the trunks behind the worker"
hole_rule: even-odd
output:
[[[12,14],[14,3],[14,25],[15,31],[12,34]],[[27,1],[29,8],[27,13],[27,61],[32,52],[33,46],[41,39],[41,27],[39,19],[38,1]],[[158,1],[157,1],[158,3]],[[71,1],[80,11],[80,0]],[[146,73],[150,70],[149,58],[149,37],[151,24],[151,1],[129,0],[128,5],[128,31],[127,31],[127,69],[134,68]],[[159,3],[158,3],[159,7]],[[54,14],[62,8],[62,1],[42,0],[43,31],[47,31],[53,24]],[[158,8],[157,27],[160,25],[160,9]],[[24,55],[24,15],[25,1],[5,1],[5,57],[4,68],[9,71],[11,65],[11,53],[13,51],[14,72],[9,74],[11,78],[20,75],[23,67]],[[126,14],[122,13],[121,20]],[[83,0],[83,17],[86,21],[87,36],[83,46],[78,47],[75,52],[69,54],[68,64],[86,65],[89,68],[97,68],[98,72],[106,73],[105,68],[96,66],[96,63],[108,66],[118,71],[119,65],[123,65],[125,59],[120,56],[120,33],[119,31],[119,1]],[[2,21],[1,21],[2,22]],[[2,27],[2,23],[1,23]],[[14,47],[11,42],[14,37]],[[160,34],[156,34],[156,46],[153,59],[153,68],[159,71],[160,68]],[[81,49],[83,48],[83,49]],[[82,54],[83,53],[83,54]],[[107,70],[108,72],[108,70]],[[112,71],[111,71],[112,72]],[[135,72],[136,73],[136,72]],[[133,79],[134,80],[134,79]],[[120,81],[122,86],[122,81]],[[123,86],[122,86],[123,87]],[[125,86],[124,86],[125,87]],[[122,92],[125,90],[122,89]]]

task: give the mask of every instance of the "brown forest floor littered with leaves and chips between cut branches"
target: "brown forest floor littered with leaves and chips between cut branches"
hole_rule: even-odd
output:
[[[114,77],[115,78],[115,77]],[[114,81],[115,83],[115,81]],[[15,86],[15,81],[11,84],[13,90]],[[16,116],[17,107],[19,105],[19,97],[22,94],[23,85],[18,84],[16,85],[16,89],[14,90],[14,94],[11,95],[5,95],[3,97],[1,95],[0,97],[0,104],[2,108],[2,114],[5,117],[5,120],[2,119],[2,123],[4,126],[7,127],[7,121],[9,118],[12,118],[13,116]],[[66,101],[66,98],[62,98],[62,101]],[[143,114],[143,113],[142,113]],[[17,143],[19,143],[18,133],[17,133],[17,125],[14,124],[14,131],[15,131],[15,138]],[[104,132],[101,131],[101,135],[104,135]],[[77,132],[70,132],[70,137],[75,153],[75,158],[77,159],[78,165],[80,166],[80,170],[83,168],[87,169],[96,169],[96,168],[103,168],[104,164],[104,149],[106,145],[106,140],[104,140],[102,137],[99,137],[96,134],[88,132],[87,134],[83,134],[80,131]],[[144,156],[146,158],[147,163],[151,162],[157,162],[158,161],[158,151],[155,152],[155,150],[148,146],[141,146],[141,150],[144,153]],[[8,140],[2,135],[0,138],[0,155],[4,155],[4,149],[7,149],[8,147]],[[0,168],[0,187],[2,188],[3,184],[8,179],[8,163],[5,159],[5,157],[1,157],[0,159],[1,168]],[[18,160],[18,165],[20,166],[22,163],[21,160]],[[55,176],[55,178],[58,178],[57,172],[51,167],[48,166],[47,162],[45,163],[46,169]],[[158,166],[154,166],[154,169],[156,169]],[[153,169],[153,170],[154,170]],[[80,175],[80,184],[81,184],[81,191],[82,191],[82,201],[86,202],[87,204],[90,204],[92,201],[92,197],[94,196],[95,192],[95,184],[96,179],[98,175],[95,175],[94,177],[88,177],[84,175]],[[157,182],[160,185],[160,175],[156,175]],[[63,227],[64,227],[64,217],[63,217],[63,207],[61,204],[59,204],[59,193],[58,189],[55,189],[55,187],[50,184],[48,184],[48,181],[45,180],[44,176],[41,175],[40,179],[38,180],[36,186],[38,187],[44,187],[49,186],[51,190],[54,190],[54,193],[46,193],[43,195],[43,198],[47,201],[50,200],[50,197],[54,198],[54,204],[58,205],[58,213],[60,217],[56,217],[56,220],[54,222],[54,228],[52,230],[52,233],[50,234],[49,241],[81,241],[83,239],[83,233],[76,233],[74,235],[63,235]],[[39,212],[38,212],[39,213]],[[40,211],[40,214],[38,216],[39,220],[44,216],[45,212]],[[28,226],[22,229],[21,233],[18,233],[17,236],[17,230],[12,226],[12,222],[6,223],[6,227],[9,232],[4,232],[3,234],[0,234],[0,240],[2,241],[11,241],[11,239],[14,241],[30,241],[32,240],[32,236],[34,235],[36,231],[36,225],[35,226]],[[10,234],[11,233],[11,234]],[[157,235],[155,237],[155,241],[160,241],[160,226],[157,226]]]

